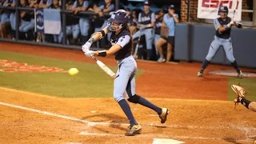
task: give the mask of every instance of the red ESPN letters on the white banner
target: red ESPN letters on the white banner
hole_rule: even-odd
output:
[[[229,9],[234,9],[234,2],[237,2],[235,9],[238,9],[238,0],[202,0],[202,7],[218,8],[219,6],[227,6]]]

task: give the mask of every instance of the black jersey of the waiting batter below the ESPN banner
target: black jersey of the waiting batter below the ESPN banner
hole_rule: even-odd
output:
[[[227,17],[226,21],[223,21],[222,18],[216,18],[216,19],[214,19],[214,26],[215,26],[215,28],[217,26],[226,26],[230,22],[231,22],[231,18],[230,17]],[[219,33],[218,30],[216,30],[216,36],[218,38],[228,39],[228,38],[230,38],[230,32],[231,32],[231,28],[227,29],[225,31],[222,31],[222,33]]]

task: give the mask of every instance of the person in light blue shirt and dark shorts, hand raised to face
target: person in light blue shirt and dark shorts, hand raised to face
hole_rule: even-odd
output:
[[[169,62],[172,54],[172,49],[174,47],[174,32],[175,32],[175,23],[178,23],[178,14],[174,13],[174,5],[168,7],[168,14],[163,16],[162,26],[168,27],[168,38],[162,37],[159,38],[157,42],[158,53],[160,58],[158,62]],[[166,59],[162,53],[162,46],[167,42],[167,56]]]

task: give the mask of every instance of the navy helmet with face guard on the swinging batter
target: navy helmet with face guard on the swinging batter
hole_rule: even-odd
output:
[[[129,21],[128,15],[126,14],[126,10],[116,10],[111,17],[108,19],[107,26],[111,31],[121,30],[125,28]],[[112,26],[112,22],[119,23],[118,26]]]

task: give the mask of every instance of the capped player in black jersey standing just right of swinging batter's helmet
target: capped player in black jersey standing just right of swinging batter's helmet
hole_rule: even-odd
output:
[[[144,11],[138,14],[138,32],[133,35],[133,39],[145,35],[147,59],[151,58],[152,44],[154,40],[154,13],[150,11],[150,2],[144,2]]]

